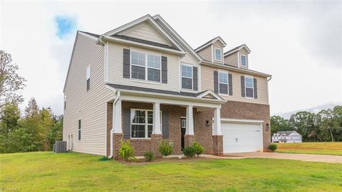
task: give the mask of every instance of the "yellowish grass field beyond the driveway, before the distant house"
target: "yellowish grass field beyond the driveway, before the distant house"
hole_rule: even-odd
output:
[[[342,142],[277,144],[279,153],[342,155]],[[341,190],[342,191],[342,190]]]

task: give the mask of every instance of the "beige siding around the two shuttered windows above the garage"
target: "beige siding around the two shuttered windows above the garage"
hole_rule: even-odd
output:
[[[211,68],[208,66],[202,65],[202,90],[214,90],[214,70],[215,68]],[[255,76],[257,78],[257,91],[258,98],[257,99],[248,99],[241,96],[241,76],[244,73],[236,73],[228,70],[228,73],[232,74],[232,85],[233,85],[233,95],[222,95],[219,94],[224,100],[232,100],[239,102],[253,102],[258,104],[269,104],[268,101],[268,87],[267,87],[267,79],[259,76]]]

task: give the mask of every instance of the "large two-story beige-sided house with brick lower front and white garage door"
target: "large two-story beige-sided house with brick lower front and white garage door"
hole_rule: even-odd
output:
[[[249,70],[246,45],[225,46],[217,37],[194,50],[160,15],[78,31],[63,90],[68,149],[116,158],[125,139],[137,156],[160,155],[168,139],[173,154],[195,140],[207,154],[263,151],[271,75]]]

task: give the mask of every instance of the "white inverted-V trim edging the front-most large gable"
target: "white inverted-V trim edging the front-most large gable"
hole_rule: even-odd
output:
[[[108,31],[107,33],[105,33],[104,35],[107,36],[113,36],[113,35],[117,35],[118,33],[120,33],[121,31],[124,31],[128,28],[131,28],[133,26],[138,25],[139,23],[145,22],[147,21],[148,23],[151,24],[151,26],[153,28],[155,28],[156,31],[160,32],[160,34],[162,34],[162,36],[164,36],[168,41],[170,41],[175,48],[177,48],[177,50],[182,50],[185,51],[182,46],[180,46],[177,41],[175,41],[175,39],[172,38],[172,36],[170,36],[169,33],[167,33],[167,31],[165,31],[164,28],[162,28],[159,23],[157,23],[157,21],[155,21],[154,18],[152,18],[152,16],[150,16],[149,14],[142,16],[140,18],[135,19],[134,21],[131,21],[129,23],[126,23],[123,26],[120,26],[118,28],[113,29],[112,31]]]

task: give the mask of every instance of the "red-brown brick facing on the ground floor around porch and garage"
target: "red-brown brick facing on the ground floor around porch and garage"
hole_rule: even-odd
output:
[[[107,105],[107,155],[110,152],[110,129],[112,126],[112,113],[113,103]],[[122,108],[135,108],[142,110],[152,110],[152,103],[141,103],[141,102],[122,102]],[[181,127],[180,118],[185,117],[186,108],[176,105],[160,105],[162,112],[168,112],[169,114],[169,138],[168,140],[173,143],[173,153],[181,153]],[[214,110],[206,110],[204,112],[197,112],[194,109],[194,132],[195,136],[185,135],[185,146],[191,145],[197,141],[199,144],[204,146],[206,154],[223,154],[223,139],[222,136],[212,136],[212,117],[214,117]],[[264,129],[264,149],[267,148],[271,141],[270,130],[266,124],[269,124],[269,105],[260,105],[247,102],[233,102],[228,101],[221,108],[222,118],[231,119],[257,119],[263,120]],[[124,118],[124,117],[123,117]],[[123,119],[124,122],[125,119]],[[115,137],[114,146],[118,147],[120,144],[121,136]],[[145,151],[153,151],[157,156],[160,156],[158,148],[162,135],[154,135],[151,139],[130,139],[130,144],[135,149],[136,156],[142,156]],[[115,155],[118,153],[118,148],[114,147]]]

